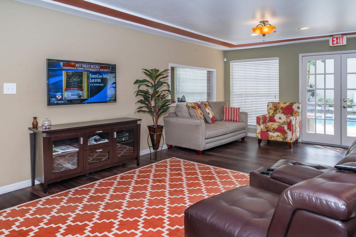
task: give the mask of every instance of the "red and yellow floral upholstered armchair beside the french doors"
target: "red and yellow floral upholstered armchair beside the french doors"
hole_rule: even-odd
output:
[[[262,139],[288,142],[292,148],[292,142],[300,136],[301,104],[295,102],[268,102],[267,114],[256,117],[256,135],[258,144]]]

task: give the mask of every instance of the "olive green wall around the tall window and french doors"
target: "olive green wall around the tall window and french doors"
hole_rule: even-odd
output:
[[[299,54],[356,50],[356,38],[347,38],[347,44],[330,47],[329,39],[323,41],[285,44],[224,52],[225,99],[230,102],[230,61],[257,58],[279,58],[279,101],[299,101]],[[266,107],[267,111],[267,107]],[[256,129],[249,129],[256,133]]]

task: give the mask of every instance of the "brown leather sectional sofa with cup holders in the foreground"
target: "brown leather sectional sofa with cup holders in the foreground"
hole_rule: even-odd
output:
[[[340,164],[356,166],[356,141]],[[187,208],[184,228],[185,237],[356,237],[356,173],[280,160]]]

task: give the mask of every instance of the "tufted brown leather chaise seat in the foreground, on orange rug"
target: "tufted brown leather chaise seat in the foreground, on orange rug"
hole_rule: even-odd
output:
[[[185,236],[266,237],[278,199],[246,185],[201,200],[184,212]]]

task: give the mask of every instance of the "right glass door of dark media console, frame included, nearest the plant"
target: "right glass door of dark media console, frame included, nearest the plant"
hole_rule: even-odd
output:
[[[114,160],[122,161],[137,155],[137,125],[117,127],[114,131]]]

